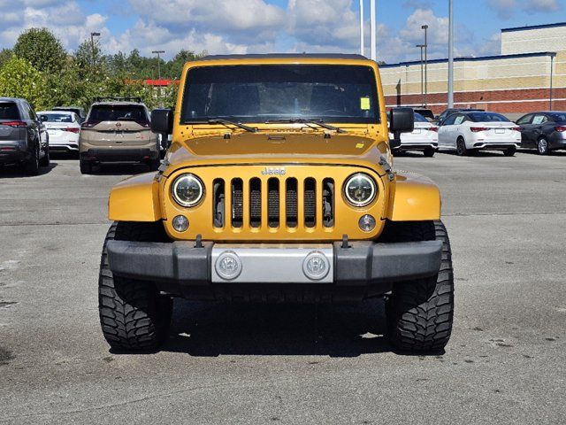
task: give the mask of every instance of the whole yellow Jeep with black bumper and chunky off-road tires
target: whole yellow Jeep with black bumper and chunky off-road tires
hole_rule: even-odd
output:
[[[397,350],[448,342],[454,282],[440,192],[392,168],[379,69],[356,55],[187,63],[156,173],[111,190],[99,308],[118,350],[155,349],[172,298],[324,303],[386,297]],[[389,140],[388,131],[395,137]]]

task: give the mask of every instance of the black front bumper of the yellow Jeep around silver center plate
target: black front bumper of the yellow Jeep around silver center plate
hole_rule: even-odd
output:
[[[201,248],[195,242],[141,243],[109,241],[106,246],[113,274],[156,282],[157,288],[190,298],[192,290],[210,288],[211,252],[214,243]],[[394,282],[409,281],[439,273],[442,242],[372,243],[350,242],[348,248],[333,243],[333,286],[342,289],[372,288],[378,295],[391,290]],[[277,273],[276,270],[273,273]],[[261,285],[262,282],[257,282]],[[280,285],[304,286],[293,282]],[[226,282],[229,286],[246,286]],[[270,286],[272,284],[263,284]],[[249,285],[248,285],[249,286]]]

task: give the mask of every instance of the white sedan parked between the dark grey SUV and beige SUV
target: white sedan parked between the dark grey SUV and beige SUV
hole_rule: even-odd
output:
[[[76,113],[41,111],[37,115],[50,135],[50,151],[79,151],[80,118]]]

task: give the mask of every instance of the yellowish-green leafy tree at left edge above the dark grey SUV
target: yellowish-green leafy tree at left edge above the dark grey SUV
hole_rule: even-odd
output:
[[[0,68],[0,96],[23,97],[36,109],[50,106],[42,73],[26,59],[12,56]]]

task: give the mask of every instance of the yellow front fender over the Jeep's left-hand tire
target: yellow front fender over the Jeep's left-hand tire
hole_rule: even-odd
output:
[[[164,219],[155,173],[135,175],[111,189],[108,218],[114,221],[157,221]]]

